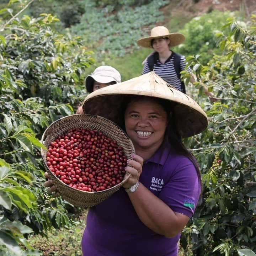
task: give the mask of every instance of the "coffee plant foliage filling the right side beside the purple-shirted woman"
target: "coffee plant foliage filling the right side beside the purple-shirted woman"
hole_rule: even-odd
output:
[[[256,16],[229,18],[217,34],[222,55],[209,65],[188,58],[200,88],[193,93],[209,118],[200,135],[187,139],[202,170],[201,203],[182,233],[187,255],[255,256],[256,251]],[[185,81],[189,74],[183,74]],[[203,97],[202,85],[217,100]]]

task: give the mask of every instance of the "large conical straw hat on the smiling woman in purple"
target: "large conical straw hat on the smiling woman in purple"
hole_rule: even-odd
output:
[[[122,103],[127,95],[169,100],[177,131],[183,138],[201,133],[208,125],[207,114],[191,97],[169,85],[153,71],[92,92],[85,98],[82,108],[86,114],[102,116],[118,124],[124,114]]]

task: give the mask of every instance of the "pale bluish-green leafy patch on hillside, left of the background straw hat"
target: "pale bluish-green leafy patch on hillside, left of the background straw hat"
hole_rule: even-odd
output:
[[[148,30],[143,31],[143,26],[164,20],[159,8],[167,2],[154,0],[135,8],[126,6],[112,14],[113,6],[97,9],[95,2],[87,1],[81,22],[71,27],[71,31],[84,36],[86,45],[95,49],[99,58],[105,53],[123,56],[128,48],[138,48],[136,41],[147,35]]]

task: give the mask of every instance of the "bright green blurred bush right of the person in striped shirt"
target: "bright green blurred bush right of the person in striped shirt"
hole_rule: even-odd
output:
[[[213,11],[194,17],[180,31],[186,40],[176,48],[177,52],[185,56],[201,54],[200,60],[206,65],[213,53],[220,54],[215,34],[230,16],[233,16],[230,12]]]

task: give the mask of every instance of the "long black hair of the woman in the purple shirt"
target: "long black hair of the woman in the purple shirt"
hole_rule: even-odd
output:
[[[139,100],[149,100],[151,99],[152,101],[158,103],[160,106],[162,106],[167,113],[167,118],[168,118],[168,124],[165,130],[165,138],[168,140],[170,146],[171,146],[171,151],[178,154],[178,155],[183,155],[186,156],[194,165],[196,172],[197,172],[197,177],[198,177],[198,182],[199,182],[199,187],[200,190],[202,190],[202,184],[201,184],[201,172],[199,169],[198,162],[194,155],[186,148],[182,141],[182,137],[180,133],[177,130],[176,124],[175,124],[175,113],[172,112],[172,109],[174,106],[177,104],[175,102],[170,102],[169,100],[165,100],[162,98],[152,98],[148,96],[141,96],[141,95],[127,95],[124,96],[123,101],[122,101],[122,106],[121,106],[121,111],[122,114],[120,115],[120,123],[119,126],[126,132],[125,128],[125,123],[124,123],[124,113],[126,111],[126,108],[129,103],[134,102],[134,101],[139,101]]]

